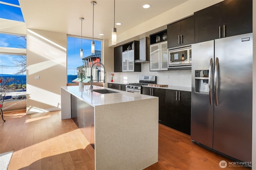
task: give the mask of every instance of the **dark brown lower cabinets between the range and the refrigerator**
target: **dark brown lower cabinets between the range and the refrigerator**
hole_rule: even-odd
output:
[[[190,135],[191,92],[143,87],[142,94],[159,98],[159,123]]]

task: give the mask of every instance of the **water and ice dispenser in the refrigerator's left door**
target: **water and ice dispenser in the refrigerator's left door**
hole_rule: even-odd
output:
[[[195,92],[209,93],[208,77],[209,70],[195,70]]]

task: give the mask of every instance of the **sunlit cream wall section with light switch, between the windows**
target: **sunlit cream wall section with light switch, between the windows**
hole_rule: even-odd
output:
[[[66,34],[27,29],[28,114],[60,109],[60,86],[67,82],[66,45]]]

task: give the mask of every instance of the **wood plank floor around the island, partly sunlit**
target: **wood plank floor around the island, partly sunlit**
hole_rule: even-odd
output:
[[[94,150],[72,119],[61,120],[60,111],[25,112],[4,112],[0,121],[0,153],[14,150],[8,170],[94,170]],[[145,170],[217,170],[221,160],[233,162],[159,124],[158,162]]]

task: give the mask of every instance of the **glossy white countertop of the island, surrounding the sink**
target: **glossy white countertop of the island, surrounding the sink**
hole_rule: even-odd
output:
[[[106,104],[115,104],[115,103],[156,98],[154,96],[125,92],[121,90],[115,90],[112,88],[105,88],[105,89],[116,91],[119,93],[100,94],[98,92],[91,92],[89,90],[90,86],[84,86],[84,88],[79,88],[78,86],[63,86],[61,88],[63,88],[70,94],[76,96],[77,98],[80,98],[81,100],[90,104],[91,106],[99,106],[99,105],[106,105]],[[93,89],[104,89],[104,88],[100,86],[93,86]]]

